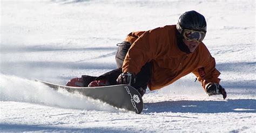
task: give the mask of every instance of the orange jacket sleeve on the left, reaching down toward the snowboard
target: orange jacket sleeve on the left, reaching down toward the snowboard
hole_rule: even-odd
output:
[[[150,62],[160,49],[158,34],[156,31],[144,32],[132,43],[125,56],[123,72],[137,74],[147,62]],[[156,47],[159,46],[159,47]]]

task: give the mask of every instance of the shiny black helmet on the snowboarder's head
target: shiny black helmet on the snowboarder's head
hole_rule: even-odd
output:
[[[181,34],[184,29],[193,29],[206,33],[207,26],[205,17],[202,14],[196,11],[187,11],[179,17],[176,28]]]

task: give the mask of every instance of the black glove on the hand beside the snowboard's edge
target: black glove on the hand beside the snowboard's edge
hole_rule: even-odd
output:
[[[124,72],[117,78],[117,84],[133,85],[135,83],[135,75],[131,72]]]

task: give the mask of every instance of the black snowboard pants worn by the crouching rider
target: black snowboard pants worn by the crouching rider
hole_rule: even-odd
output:
[[[127,54],[127,51],[131,47],[131,43],[129,43],[129,42],[122,42],[119,44],[120,45],[118,47],[118,51],[116,54],[117,69],[106,72],[99,77],[83,75],[82,77],[83,77],[83,81],[84,81],[84,86],[88,86],[92,81],[100,80],[100,79],[107,80],[110,83],[110,85],[117,84],[116,79],[118,78],[118,76],[121,73],[123,73],[122,65],[124,62],[124,58]],[[142,94],[142,95],[145,93],[147,83],[149,83],[150,78],[151,78],[151,67],[152,67],[151,62],[146,63],[142,67],[142,69],[140,69],[140,72],[136,75],[136,82],[132,85],[134,88],[137,88],[138,91],[140,92],[140,94]],[[141,91],[143,91],[143,92],[141,92]]]

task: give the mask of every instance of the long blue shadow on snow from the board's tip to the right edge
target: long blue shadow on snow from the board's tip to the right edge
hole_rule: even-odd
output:
[[[144,113],[256,113],[255,99],[226,101],[163,101],[144,104]]]

